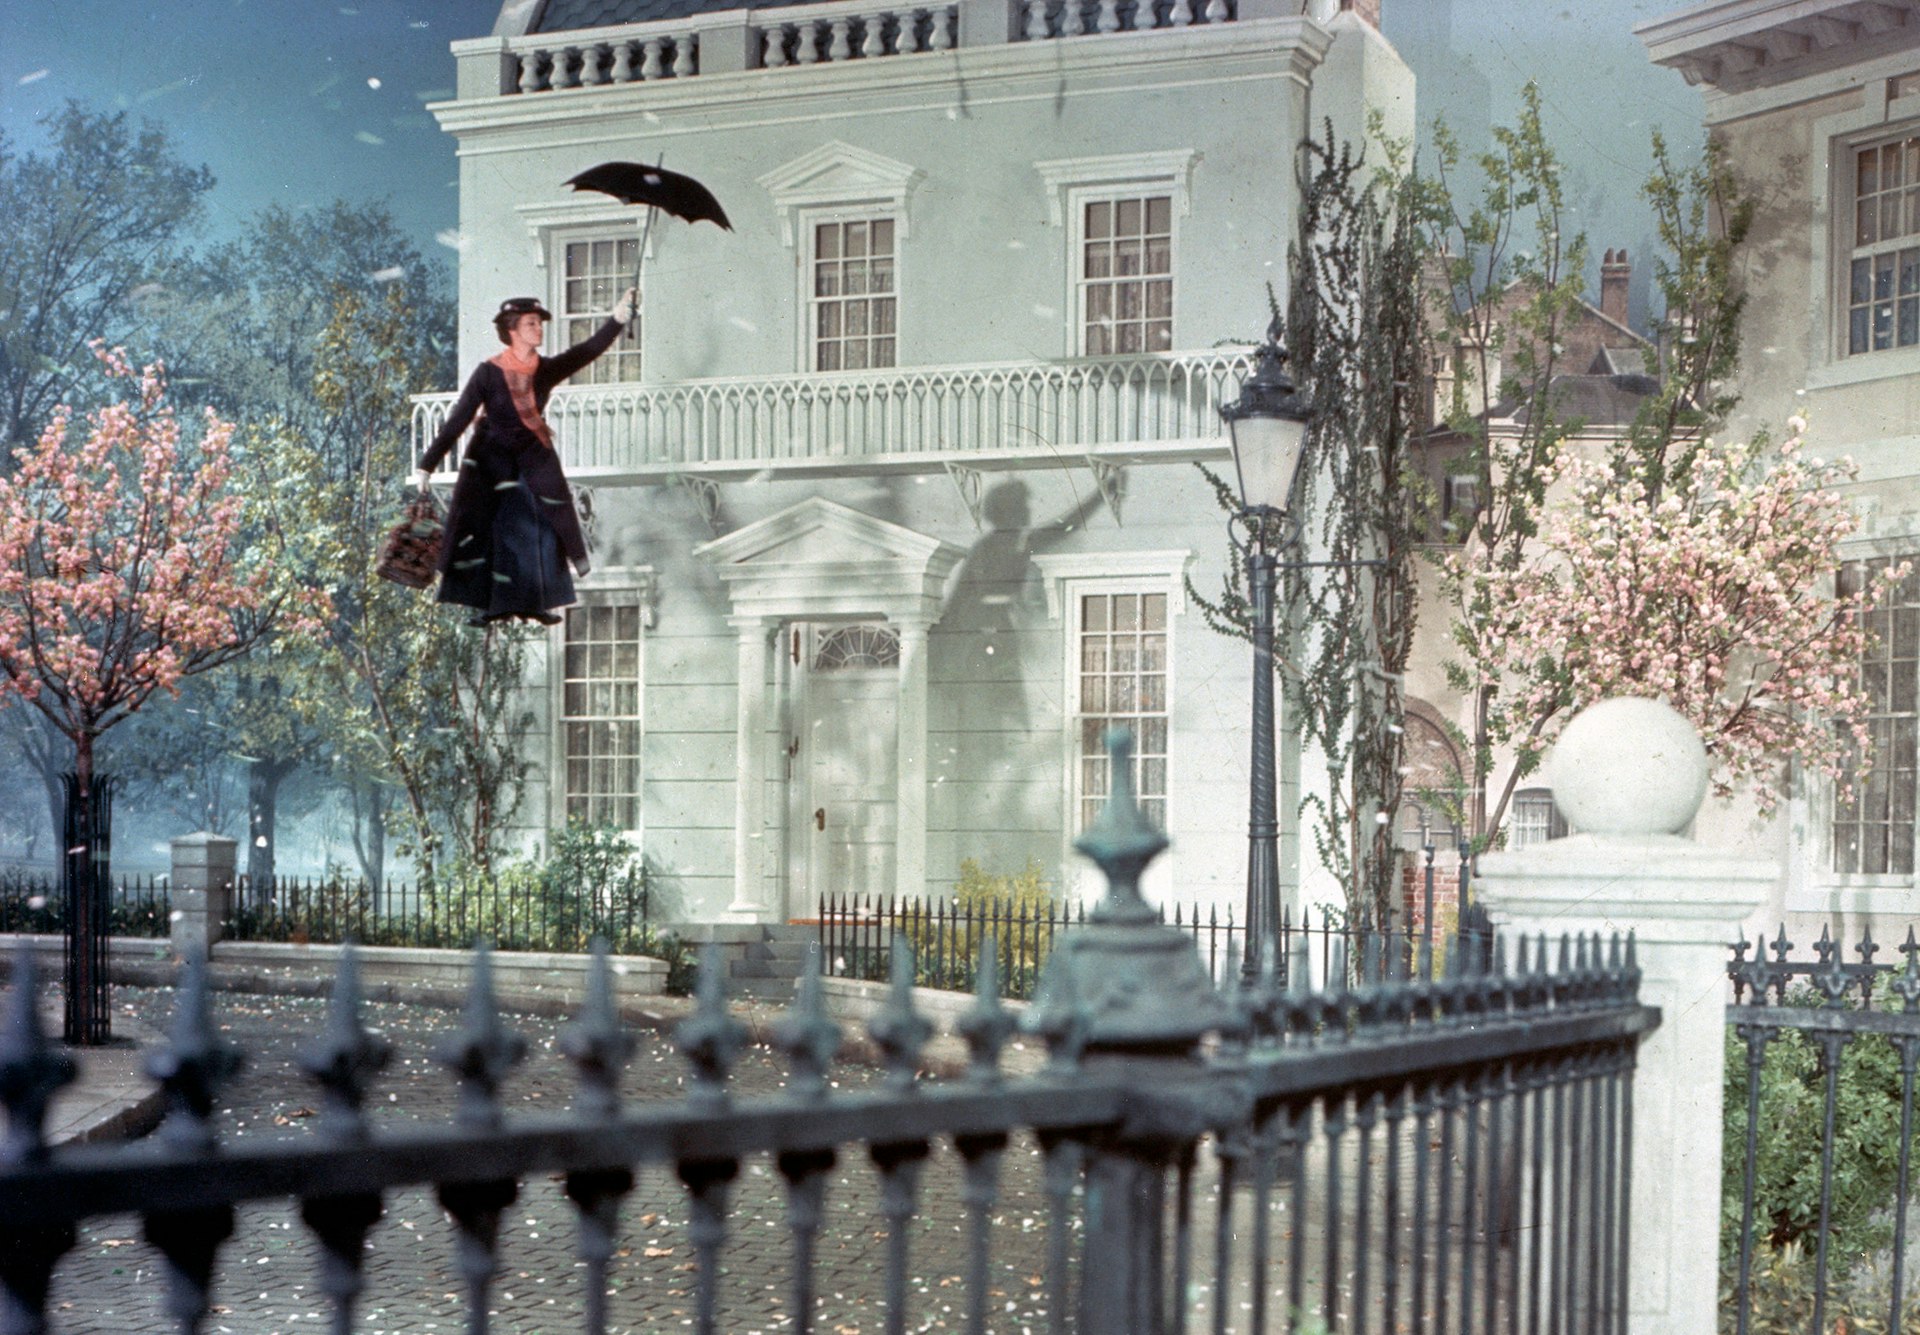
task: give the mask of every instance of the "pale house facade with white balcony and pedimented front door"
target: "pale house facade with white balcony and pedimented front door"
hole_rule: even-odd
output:
[[[705,922],[964,859],[1073,893],[1125,724],[1162,893],[1238,903],[1250,653],[1187,595],[1231,559],[1194,465],[1284,286],[1296,146],[1411,133],[1377,15],[1300,10],[509,0],[455,42],[461,365],[507,296],[559,348],[643,275],[547,411],[593,570],[536,645],[528,839],[632,830]],[[609,159],[733,231],[564,188]]]

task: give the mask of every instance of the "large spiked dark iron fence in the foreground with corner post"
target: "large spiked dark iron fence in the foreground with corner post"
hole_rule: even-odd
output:
[[[171,1106],[156,1143],[48,1151],[44,1103],[71,1062],[40,1035],[31,980],[17,982],[0,1049],[4,1329],[42,1329],[75,1224],[109,1212],[146,1218],[169,1310],[182,1331],[198,1329],[234,1204],[286,1197],[323,1245],[319,1287],[334,1329],[351,1329],[382,1195],[430,1183],[457,1229],[468,1331],[486,1331],[501,1212],[520,1179],[564,1174],[584,1327],[603,1331],[620,1204],[649,1164],[668,1168],[689,1199],[691,1323],[732,1329],[718,1308],[730,1189],[747,1160],[770,1156],[789,1202],[791,1322],[810,1331],[822,1316],[824,1193],[839,1156],[858,1147],[877,1174],[889,1237],[885,1329],[904,1331],[916,1322],[908,1226],[920,1170],[947,1141],[964,1166],[966,1329],[979,1333],[998,1304],[991,1252],[1010,1241],[991,1224],[1000,1160],[1012,1137],[1031,1135],[1048,1199],[1035,1270],[1054,1331],[1142,1335],[1202,1316],[1217,1333],[1315,1320],[1356,1331],[1624,1331],[1632,1068],[1659,1024],[1636,1003],[1632,941],[1563,941],[1557,968],[1544,941],[1523,943],[1511,970],[1494,949],[1484,972],[1469,972],[1473,953],[1455,949],[1438,980],[1402,978],[1367,945],[1357,983],[1323,991],[1308,987],[1298,951],[1281,987],[1267,953],[1254,980],[1221,991],[1192,939],[1139,895],[1139,872],[1165,839],[1140,820],[1127,772],[1116,755],[1116,795],[1081,839],[1110,893],[1062,935],[1023,1020],[1048,1051],[1035,1076],[1000,1070],[1016,1026],[985,945],[977,1003],[958,1022],[970,1072],[922,1080],[929,1026],[912,1008],[912,951],[897,945],[889,1005],[870,1024],[885,1064],[877,1089],[831,1089],[841,1030],[826,1016],[814,955],[774,1028],[791,1064],[785,1093],[733,1099],[745,1030],[708,955],[699,1005],[678,1032],[693,1066],[687,1097],[626,1110],[616,1074],[630,1041],[599,955],[584,1014],[563,1037],[580,1072],[572,1114],[509,1118],[497,1093],[524,1045],[495,1012],[482,951],[465,1028],[438,1053],[459,1080],[453,1124],[374,1128],[361,1106],[390,1053],[361,1028],[348,951],[326,1033],[303,1058],[323,1095],[313,1133],[221,1141],[213,1108],[236,1055],[211,1024],[204,966],[190,960],[173,1043],[152,1062]],[[1332,976],[1346,976],[1344,960]]]

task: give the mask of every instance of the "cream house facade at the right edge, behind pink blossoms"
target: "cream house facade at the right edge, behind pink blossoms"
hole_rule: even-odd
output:
[[[1860,530],[1837,572],[1855,586],[1920,555],[1920,4],[1716,0],[1636,33],[1703,92],[1709,133],[1759,200],[1728,430],[1778,436],[1803,413],[1814,451],[1859,465]],[[1722,813],[1715,832],[1782,861],[1757,922],[1786,916],[1789,935],[1795,918],[1836,924],[1836,939],[1920,918],[1920,576],[1868,628],[1874,747],[1851,795],[1811,782],[1778,820]]]

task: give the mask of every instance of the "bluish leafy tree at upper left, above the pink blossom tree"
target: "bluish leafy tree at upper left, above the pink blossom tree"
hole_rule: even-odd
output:
[[[69,102],[44,152],[0,133],[0,471],[56,401],[88,388],[90,340],[132,342],[211,188],[211,171],[125,111]]]

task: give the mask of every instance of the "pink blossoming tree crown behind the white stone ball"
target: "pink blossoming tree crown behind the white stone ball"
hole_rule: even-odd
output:
[[[1480,574],[1478,640],[1498,647],[1484,659],[1488,722],[1519,755],[1496,811],[1559,726],[1607,695],[1667,699],[1705,738],[1715,791],[1751,788],[1763,811],[1788,757],[1843,780],[1849,751],[1866,747],[1860,611],[1884,590],[1828,592],[1859,522],[1837,490],[1853,465],[1809,457],[1805,432],[1793,417],[1778,448],[1709,440],[1659,492],[1561,459],[1528,561]]]

